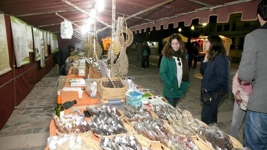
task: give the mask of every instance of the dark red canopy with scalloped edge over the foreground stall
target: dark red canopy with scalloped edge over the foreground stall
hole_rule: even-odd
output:
[[[0,12],[8,15],[14,15],[23,21],[41,28],[60,34],[60,22],[64,19],[56,15],[56,12],[75,22],[79,26],[86,24],[89,18],[84,13],[76,10],[68,5],[66,0],[9,0],[0,1]],[[228,22],[231,13],[242,12],[242,20],[257,19],[257,5],[261,0],[116,0],[116,19],[119,16],[127,17],[136,14],[127,20],[127,27],[131,31],[141,33],[147,28],[150,31],[153,27],[156,30],[168,28],[168,24],[174,24],[174,28],[178,27],[178,22],[185,22],[185,26],[190,26],[192,19],[199,18],[199,23],[208,23],[210,15],[218,15],[217,22]],[[96,6],[95,0],[69,0],[70,3],[86,10],[90,10]],[[161,3],[165,4],[161,4]],[[95,18],[111,24],[112,20],[112,0],[104,0],[104,10],[96,11]],[[152,6],[158,7],[151,8]],[[177,7],[179,6],[179,7]],[[147,9],[149,8],[149,9]],[[146,10],[146,11],[144,11]],[[171,11],[170,11],[171,10]],[[142,11],[142,12],[141,12]],[[96,22],[96,30],[106,27],[100,22]],[[73,25],[74,29],[80,30],[79,27]],[[93,31],[93,25],[90,25],[90,32]],[[74,31],[76,32],[76,31]],[[104,32],[110,33],[110,29]]]

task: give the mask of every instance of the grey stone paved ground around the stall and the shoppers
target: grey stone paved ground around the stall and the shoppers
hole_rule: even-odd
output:
[[[141,61],[136,61],[136,54],[128,54],[128,56],[128,75],[135,78],[134,82],[144,88],[153,89],[154,95],[162,95],[163,82],[157,67],[158,56],[150,56],[149,69],[141,69]],[[237,69],[238,64],[231,63],[231,78]],[[13,111],[0,131],[0,149],[43,150],[46,147],[49,123],[56,105],[55,85],[58,76],[58,70],[53,68]],[[202,104],[199,97],[202,76],[199,73],[199,62],[196,69],[190,70],[190,78],[191,85],[178,105],[183,109],[188,109],[194,117],[200,119]],[[232,80],[230,86],[232,90]],[[228,93],[219,105],[218,126],[226,132],[229,132],[231,125],[233,104],[234,97],[232,93]],[[243,135],[244,125],[242,124],[238,135],[238,140],[242,143]]]

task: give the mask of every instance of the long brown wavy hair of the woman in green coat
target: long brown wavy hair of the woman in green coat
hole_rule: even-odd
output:
[[[180,37],[180,35],[174,34],[171,35],[170,39],[168,40],[168,42],[166,43],[166,45],[163,48],[162,51],[162,55],[165,56],[166,58],[170,58],[173,55],[173,48],[171,47],[171,41],[173,39],[177,39],[179,44],[180,44],[180,51],[182,53],[186,53],[186,48],[184,46],[184,42],[182,40],[182,38]]]

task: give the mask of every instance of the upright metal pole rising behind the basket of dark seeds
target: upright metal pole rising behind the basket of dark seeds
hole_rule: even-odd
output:
[[[113,40],[115,38],[115,29],[116,29],[116,0],[112,0],[112,23],[111,23],[111,52],[110,52],[110,76],[113,76],[113,64],[114,64],[114,54],[113,54]]]

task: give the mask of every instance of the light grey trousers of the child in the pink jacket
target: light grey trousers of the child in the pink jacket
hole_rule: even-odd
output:
[[[237,138],[239,129],[242,125],[243,119],[245,117],[246,112],[243,111],[240,106],[237,104],[236,100],[234,103],[232,123],[230,128],[230,135],[234,138]]]

